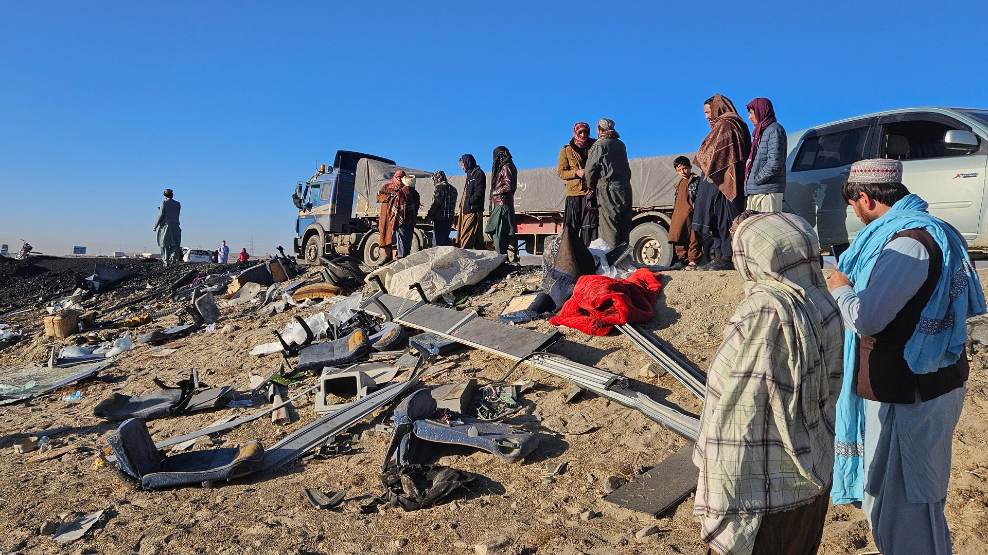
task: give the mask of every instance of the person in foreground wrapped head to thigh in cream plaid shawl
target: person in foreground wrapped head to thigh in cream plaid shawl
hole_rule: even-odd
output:
[[[707,373],[694,514],[708,554],[813,555],[834,464],[841,313],[806,220],[742,216],[732,256],[745,298]]]

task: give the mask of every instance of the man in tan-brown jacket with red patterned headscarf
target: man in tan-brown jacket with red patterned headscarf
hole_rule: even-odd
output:
[[[597,139],[590,138],[590,124],[580,121],[573,125],[573,138],[559,151],[559,179],[566,182],[566,202],[563,224],[580,233],[584,245],[597,239],[597,212],[587,208],[590,189],[583,179],[587,151]]]

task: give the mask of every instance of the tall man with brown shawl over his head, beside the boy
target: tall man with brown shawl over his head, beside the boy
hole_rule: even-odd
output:
[[[693,163],[700,168],[693,229],[713,236],[712,260],[700,270],[731,270],[731,221],[745,208],[744,174],[751,151],[748,124],[730,99],[713,95],[703,103],[710,132]]]

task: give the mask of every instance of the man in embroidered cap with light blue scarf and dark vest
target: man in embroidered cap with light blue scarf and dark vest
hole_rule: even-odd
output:
[[[846,325],[831,495],[862,502],[884,555],[948,555],[950,441],[981,283],[964,239],[902,185],[899,161],[856,162],[842,194],[864,229],[829,280]]]

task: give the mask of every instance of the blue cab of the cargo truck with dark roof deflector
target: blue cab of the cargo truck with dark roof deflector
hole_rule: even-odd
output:
[[[317,264],[324,256],[353,254],[361,248],[372,223],[357,215],[355,180],[362,158],[394,164],[372,154],[338,150],[332,166],[321,166],[308,181],[295,184],[293,250],[299,262]]]

